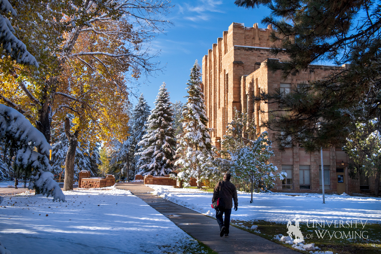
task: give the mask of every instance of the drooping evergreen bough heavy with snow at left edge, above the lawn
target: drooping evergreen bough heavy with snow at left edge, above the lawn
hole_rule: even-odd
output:
[[[3,149],[9,146],[16,149],[16,166],[32,168],[30,189],[35,188],[42,194],[52,195],[53,201],[65,200],[61,188],[53,180],[48,158],[34,151],[34,148],[40,148],[42,153],[48,154],[51,146],[25,116],[4,104],[0,104],[0,146]]]

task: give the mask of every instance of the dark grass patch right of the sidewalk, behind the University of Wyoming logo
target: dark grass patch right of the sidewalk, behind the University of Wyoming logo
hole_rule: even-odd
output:
[[[246,227],[251,227],[251,225],[258,225],[258,230],[261,233],[255,233],[253,230],[239,227],[239,225],[235,225],[234,223],[243,223]],[[354,223],[354,222],[353,222]],[[363,222],[364,223],[364,222]],[[261,236],[263,238],[266,238],[267,240],[273,241],[275,243],[281,244],[283,246],[286,246],[288,248],[291,248],[291,245],[281,243],[278,240],[274,240],[274,235],[287,235],[287,223],[279,223],[279,222],[268,222],[264,220],[253,220],[253,221],[244,221],[244,220],[232,220],[231,225],[237,228],[240,228],[242,230],[248,231],[250,233],[253,233],[255,235]],[[317,227],[317,225],[314,225],[312,228],[311,223],[309,223],[309,227],[307,227],[306,223],[300,223],[301,231],[304,235],[304,241],[306,244],[308,243],[315,243],[315,246],[318,246],[321,251],[332,251],[335,253],[340,254],[353,254],[353,253],[361,253],[361,254],[372,254],[372,253],[378,253],[381,254],[381,240],[379,240],[379,235],[381,235],[381,224],[378,223],[367,223],[365,227],[362,229],[362,226],[360,224],[357,225],[357,228],[353,228],[354,225],[352,225],[352,228],[339,228],[338,225],[336,225],[337,228],[334,228],[334,223],[331,225],[330,228],[327,227],[327,224],[325,224],[325,227]],[[348,226],[347,226],[348,227]],[[352,231],[356,231],[357,233],[360,233],[360,231],[367,231],[364,232],[363,235],[366,238],[365,235],[368,236],[368,239],[359,238],[358,236],[356,239],[346,239],[346,238],[336,238],[334,236],[335,231],[345,232],[348,233],[349,229]],[[325,232],[327,230],[327,233],[324,235],[323,238],[319,238],[315,232],[315,230],[319,233]],[[312,237],[307,239],[307,234],[313,234]],[[337,237],[340,237],[340,233],[336,233]],[[332,236],[332,237],[330,237]],[[291,248],[295,251],[299,251],[297,249]],[[302,253],[308,253],[306,251],[299,251]]]

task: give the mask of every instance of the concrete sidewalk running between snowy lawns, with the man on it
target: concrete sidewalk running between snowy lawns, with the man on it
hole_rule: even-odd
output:
[[[229,237],[219,236],[215,219],[195,212],[163,198],[153,196],[153,189],[141,183],[117,183],[116,187],[129,190],[193,238],[208,245],[219,254],[297,254],[300,252],[273,243],[239,228],[230,227]]]

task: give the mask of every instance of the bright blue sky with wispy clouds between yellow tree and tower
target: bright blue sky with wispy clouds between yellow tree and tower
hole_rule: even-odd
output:
[[[152,50],[160,50],[158,60],[165,66],[163,73],[149,77],[150,83],[142,84],[139,88],[151,107],[160,85],[165,82],[171,101],[186,102],[186,82],[190,69],[196,59],[201,65],[202,57],[208,49],[222,37],[233,22],[253,26],[259,23],[260,28],[264,16],[269,14],[265,7],[245,9],[234,5],[234,0],[173,0],[171,13],[165,18],[174,23],[168,27],[166,34],[160,34],[152,42]],[[131,100],[136,103],[136,100]]]

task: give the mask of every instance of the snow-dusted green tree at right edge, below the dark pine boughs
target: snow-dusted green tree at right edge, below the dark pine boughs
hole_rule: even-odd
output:
[[[375,177],[375,192],[378,196],[381,175],[381,133],[378,118],[367,123],[356,123],[356,129],[347,137],[343,147],[349,158],[353,160],[349,174],[352,178],[359,175]]]

